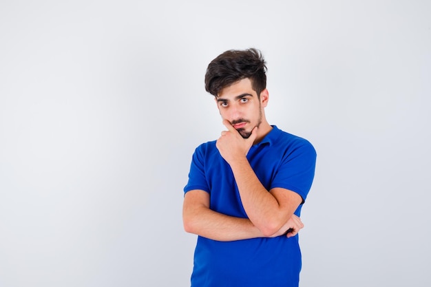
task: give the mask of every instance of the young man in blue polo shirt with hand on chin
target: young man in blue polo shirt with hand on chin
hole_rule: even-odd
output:
[[[184,188],[185,231],[198,235],[191,286],[298,286],[299,214],[315,149],[266,121],[258,50],[220,54],[208,65],[205,89],[227,130],[193,153]]]

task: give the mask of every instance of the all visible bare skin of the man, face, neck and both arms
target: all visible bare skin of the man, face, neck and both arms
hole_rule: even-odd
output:
[[[267,191],[246,159],[251,145],[260,142],[272,129],[264,113],[269,101],[268,90],[264,89],[259,98],[249,78],[244,78],[222,89],[215,101],[227,128],[216,147],[231,166],[249,218],[212,211],[209,193],[193,190],[185,194],[183,203],[185,231],[219,241],[275,237],[288,229],[291,231],[286,236],[295,236],[304,227],[293,214],[302,202],[301,196],[282,188]]]

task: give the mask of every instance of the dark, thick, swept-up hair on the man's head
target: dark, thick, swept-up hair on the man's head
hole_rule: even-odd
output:
[[[250,78],[257,96],[266,88],[266,65],[262,52],[255,48],[228,50],[213,59],[205,74],[205,89],[213,96],[233,83]]]

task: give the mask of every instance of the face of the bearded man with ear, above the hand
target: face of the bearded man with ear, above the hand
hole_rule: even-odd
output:
[[[254,127],[260,127],[264,119],[268,95],[266,89],[257,98],[249,78],[225,87],[215,98],[220,115],[229,120],[243,138],[249,138]],[[266,120],[265,120],[266,123]]]

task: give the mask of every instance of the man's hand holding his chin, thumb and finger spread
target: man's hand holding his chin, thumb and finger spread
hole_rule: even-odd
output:
[[[257,137],[257,127],[251,131],[249,138],[242,138],[241,134],[229,123],[229,120],[223,120],[223,125],[227,127],[227,131],[222,131],[222,136],[218,138],[215,146],[222,155],[222,158],[229,164],[239,158],[244,158],[253,142]]]

